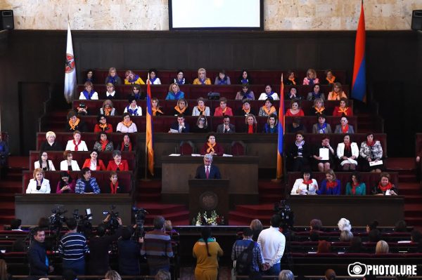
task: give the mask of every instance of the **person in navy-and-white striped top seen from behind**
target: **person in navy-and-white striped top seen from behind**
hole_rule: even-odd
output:
[[[87,239],[77,232],[77,220],[66,220],[69,231],[62,237],[58,245],[58,253],[63,257],[63,269],[71,269],[78,275],[85,274],[85,254],[89,252]]]

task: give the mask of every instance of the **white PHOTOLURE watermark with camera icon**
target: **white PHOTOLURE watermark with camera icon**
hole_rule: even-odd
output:
[[[416,265],[365,265],[362,262],[353,262],[347,266],[347,272],[352,277],[365,275],[416,276]]]

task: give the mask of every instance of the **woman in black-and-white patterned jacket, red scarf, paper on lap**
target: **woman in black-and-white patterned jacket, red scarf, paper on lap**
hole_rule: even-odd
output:
[[[362,158],[364,170],[377,173],[383,171],[383,146],[380,141],[373,139],[373,133],[366,134],[366,141],[362,142],[359,155]],[[370,162],[374,162],[375,165],[371,166]]]

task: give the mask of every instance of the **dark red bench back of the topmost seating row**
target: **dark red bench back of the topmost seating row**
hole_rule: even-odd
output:
[[[170,84],[173,82],[173,79],[177,76],[177,69],[174,70],[158,70],[158,77],[160,78],[161,84]],[[146,81],[148,76],[148,70],[132,70],[135,74],[138,74],[143,81]],[[298,84],[302,84],[303,78],[306,76],[307,70],[294,70]],[[124,79],[124,73],[126,70],[117,69],[117,76]],[[83,71],[84,77],[87,76],[87,70]],[[252,78],[253,84],[280,84],[281,74],[283,78],[287,79],[288,70],[251,70],[248,71],[250,77]],[[210,70],[207,69],[207,78],[210,78],[212,84],[214,84],[215,77],[218,76],[219,70]],[[345,84],[347,72],[345,70],[335,70],[333,69],[333,74],[335,79],[340,81],[341,84]],[[241,76],[241,69],[226,71],[226,75],[230,77],[231,84],[239,84],[239,78]],[[97,84],[103,84],[108,76],[108,69],[94,69],[94,81]],[[184,76],[188,81],[188,84],[192,84],[193,80],[198,78],[198,69],[186,70],[184,71]],[[316,70],[316,76],[319,78],[319,81],[325,79],[326,74],[325,70]],[[322,84],[322,83],[321,83]]]

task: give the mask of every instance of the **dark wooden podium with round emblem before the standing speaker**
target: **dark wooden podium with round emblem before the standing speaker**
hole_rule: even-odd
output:
[[[215,210],[217,215],[224,216],[224,223],[229,218],[229,184],[226,179],[191,179],[189,185],[189,221],[196,218],[198,212],[210,216]]]

